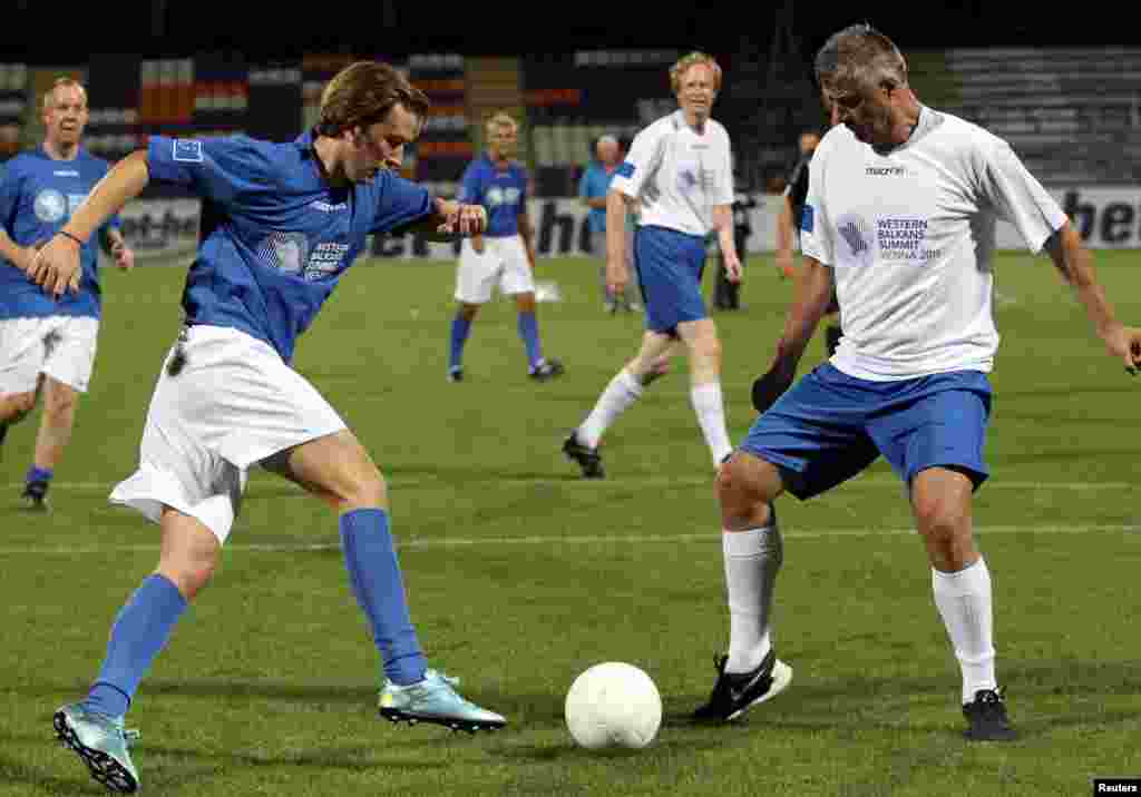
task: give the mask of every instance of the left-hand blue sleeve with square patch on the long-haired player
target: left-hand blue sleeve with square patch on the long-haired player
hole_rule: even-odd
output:
[[[151,179],[193,188],[225,204],[268,185],[267,166],[267,158],[244,137],[152,136],[147,145]]]

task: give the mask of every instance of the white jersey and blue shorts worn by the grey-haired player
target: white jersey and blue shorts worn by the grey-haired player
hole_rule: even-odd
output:
[[[1034,252],[1066,222],[1010,146],[978,125],[924,107],[907,143],[887,152],[833,128],[812,157],[801,245],[834,270],[843,337],[742,448],[778,465],[801,498],[880,455],[907,482],[941,466],[980,485],[1000,218]]]

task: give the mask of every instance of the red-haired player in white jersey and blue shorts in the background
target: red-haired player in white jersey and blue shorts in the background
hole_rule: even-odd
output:
[[[610,184],[606,208],[606,269],[612,295],[630,275],[624,258],[628,206],[640,206],[634,267],[646,307],[638,355],[610,380],[586,420],[563,444],[588,479],[605,477],[598,444],[606,429],[661,376],[672,353],[689,356],[690,400],[714,464],[731,452],[721,401],[721,344],[702,300],[705,236],[715,230],[725,268],[741,279],[733,239],[733,168],[729,136],[710,119],[721,67],[693,52],[670,70],[678,111],[634,137]]]

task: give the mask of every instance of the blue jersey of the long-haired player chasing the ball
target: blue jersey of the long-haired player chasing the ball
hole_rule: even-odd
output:
[[[155,136],[147,166],[152,179],[202,197],[199,252],[183,293],[187,323],[241,330],[285,361],[369,234],[435,212],[427,190],[385,170],[331,187],[310,133],[289,144]]]

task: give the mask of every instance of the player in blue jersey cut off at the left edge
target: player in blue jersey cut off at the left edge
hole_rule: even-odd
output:
[[[79,395],[87,392],[99,333],[100,288],[96,241],[80,252],[80,291],[58,302],[43,295],[24,271],[35,247],[62,228],[107,173],[106,161],[80,141],[87,125],[87,91],[60,78],[43,95],[43,144],[11,158],[0,178],[0,444],[8,426],[42,398],[35,454],[22,498],[47,510],[56,465],[71,439]],[[97,230],[118,266],[135,263],[119,218]]]

